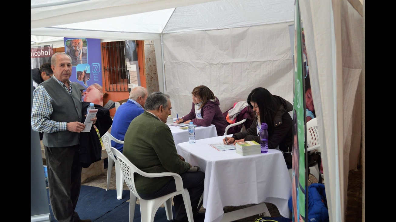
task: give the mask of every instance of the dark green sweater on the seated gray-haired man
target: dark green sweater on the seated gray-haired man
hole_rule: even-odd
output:
[[[125,134],[123,154],[146,173],[181,174],[190,169],[190,164],[182,161],[177,154],[168,125],[146,111],[131,121]],[[139,194],[155,192],[172,178],[136,175],[136,190]]]

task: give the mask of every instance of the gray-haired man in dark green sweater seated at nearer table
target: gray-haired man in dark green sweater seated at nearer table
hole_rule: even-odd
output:
[[[197,210],[199,199],[204,192],[205,174],[202,171],[188,172],[191,164],[186,163],[184,158],[177,154],[171,130],[165,124],[171,114],[171,108],[168,94],[151,93],[147,97],[145,112],[132,120],[126,131],[124,155],[144,172],[179,174],[183,179],[183,187],[187,188],[190,194],[193,212],[196,213],[194,209]],[[136,175],[135,185],[143,199],[154,199],[176,191],[172,176],[147,178]],[[173,203],[173,221],[187,221],[183,197],[175,196]]]

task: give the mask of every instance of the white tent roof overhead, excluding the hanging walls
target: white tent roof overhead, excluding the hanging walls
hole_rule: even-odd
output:
[[[86,4],[89,6],[99,5],[99,2],[102,1],[81,1],[44,8],[36,8],[38,7],[36,4],[42,1],[31,0],[30,2],[30,34],[32,35],[31,44],[33,45],[42,45],[42,42],[54,42],[56,40],[54,37],[51,39],[53,41],[37,37],[50,35],[73,38],[84,34],[85,38],[101,36],[101,39],[160,40],[160,34],[162,33],[265,25],[293,21],[294,17],[294,0],[117,1],[117,3],[124,2],[124,4],[119,3],[117,5],[134,9],[124,13],[113,11],[113,8],[118,6],[112,6],[114,3],[111,1],[107,1],[104,8],[93,9],[88,8]],[[141,2],[153,3],[150,6],[146,4],[147,8],[145,9],[135,9],[135,7],[143,4]],[[168,2],[168,4],[164,4],[168,7],[169,5],[182,5],[180,2],[188,2],[188,4],[208,3],[154,11],[159,8],[158,6],[155,7],[156,4],[161,2]],[[35,7],[32,8],[33,6]],[[81,9],[76,11],[76,8]],[[139,8],[143,8],[143,6]],[[100,16],[97,15],[99,11]],[[141,11],[148,12],[140,13]],[[106,17],[107,19],[103,19]],[[92,20],[95,18],[97,20]],[[61,41],[61,39],[58,39],[58,41]]]

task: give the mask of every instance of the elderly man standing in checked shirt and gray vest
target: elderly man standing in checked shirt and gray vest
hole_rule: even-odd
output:
[[[44,132],[43,144],[48,169],[49,200],[59,222],[81,220],[76,204],[81,188],[81,164],[78,158],[81,123],[81,93],[69,78],[69,55],[55,53],[51,58],[53,76],[36,87],[30,118],[32,129]],[[95,123],[96,117],[92,119]]]

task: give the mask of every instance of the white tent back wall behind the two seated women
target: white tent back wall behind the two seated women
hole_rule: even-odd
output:
[[[198,85],[213,91],[223,112],[246,101],[256,87],[293,101],[290,24],[164,34],[172,112],[190,112],[191,91]]]

